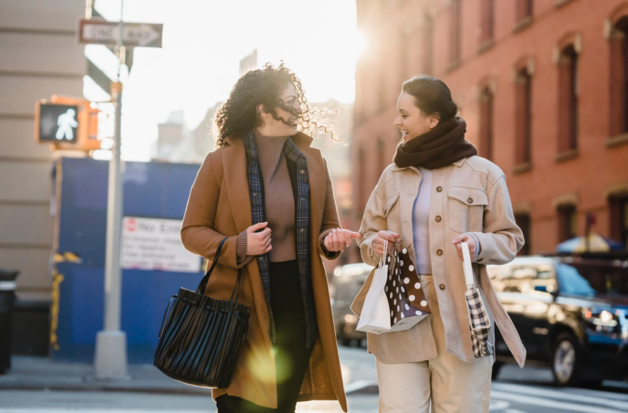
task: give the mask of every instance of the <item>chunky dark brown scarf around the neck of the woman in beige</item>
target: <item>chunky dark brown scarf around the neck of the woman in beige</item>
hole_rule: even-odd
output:
[[[400,168],[423,166],[437,169],[477,155],[476,147],[464,139],[464,132],[464,119],[452,116],[433,130],[400,144],[392,160]]]

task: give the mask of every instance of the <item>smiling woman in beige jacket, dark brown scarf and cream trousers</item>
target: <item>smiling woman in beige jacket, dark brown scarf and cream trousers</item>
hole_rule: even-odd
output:
[[[433,413],[488,412],[493,321],[520,366],[526,350],[486,266],[512,261],[524,237],[514,222],[504,173],[464,139],[466,123],[442,80],[420,76],[404,82],[397,111],[394,125],[402,142],[368,200],[358,244],[371,265],[378,264],[386,240],[407,252],[420,279],[414,288],[423,289],[431,314],[408,331],[368,334],[368,349],[377,359],[380,412],[427,413],[430,402]],[[463,241],[491,324],[479,355],[469,331]],[[371,278],[351,307],[356,314]]]

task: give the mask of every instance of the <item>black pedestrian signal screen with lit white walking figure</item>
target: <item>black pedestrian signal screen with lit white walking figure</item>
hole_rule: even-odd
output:
[[[76,143],[78,139],[78,106],[40,104],[37,113],[39,142]]]

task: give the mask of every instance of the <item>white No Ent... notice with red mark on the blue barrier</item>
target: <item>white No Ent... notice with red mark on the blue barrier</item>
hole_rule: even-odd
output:
[[[125,216],[120,266],[123,269],[200,272],[200,257],[181,244],[181,220]]]

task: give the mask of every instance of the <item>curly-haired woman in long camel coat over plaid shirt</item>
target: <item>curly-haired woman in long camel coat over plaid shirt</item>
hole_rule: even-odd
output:
[[[312,122],[313,123],[313,122]],[[206,295],[251,307],[248,335],[219,413],[294,412],[338,400],[346,412],[330,294],[321,257],[358,238],[340,228],[327,164],[310,147],[301,81],[283,64],[242,75],[216,116],[217,150],[192,186],[181,240],[213,260]]]

